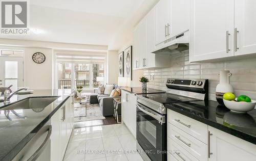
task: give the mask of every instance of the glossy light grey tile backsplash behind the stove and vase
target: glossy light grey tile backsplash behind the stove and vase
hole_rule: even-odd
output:
[[[256,58],[216,63],[189,63],[188,51],[171,56],[170,68],[144,70],[150,79],[149,88],[166,90],[167,78],[209,79],[209,99],[216,100],[220,70],[230,70],[230,83],[236,95],[245,94],[256,100]]]

